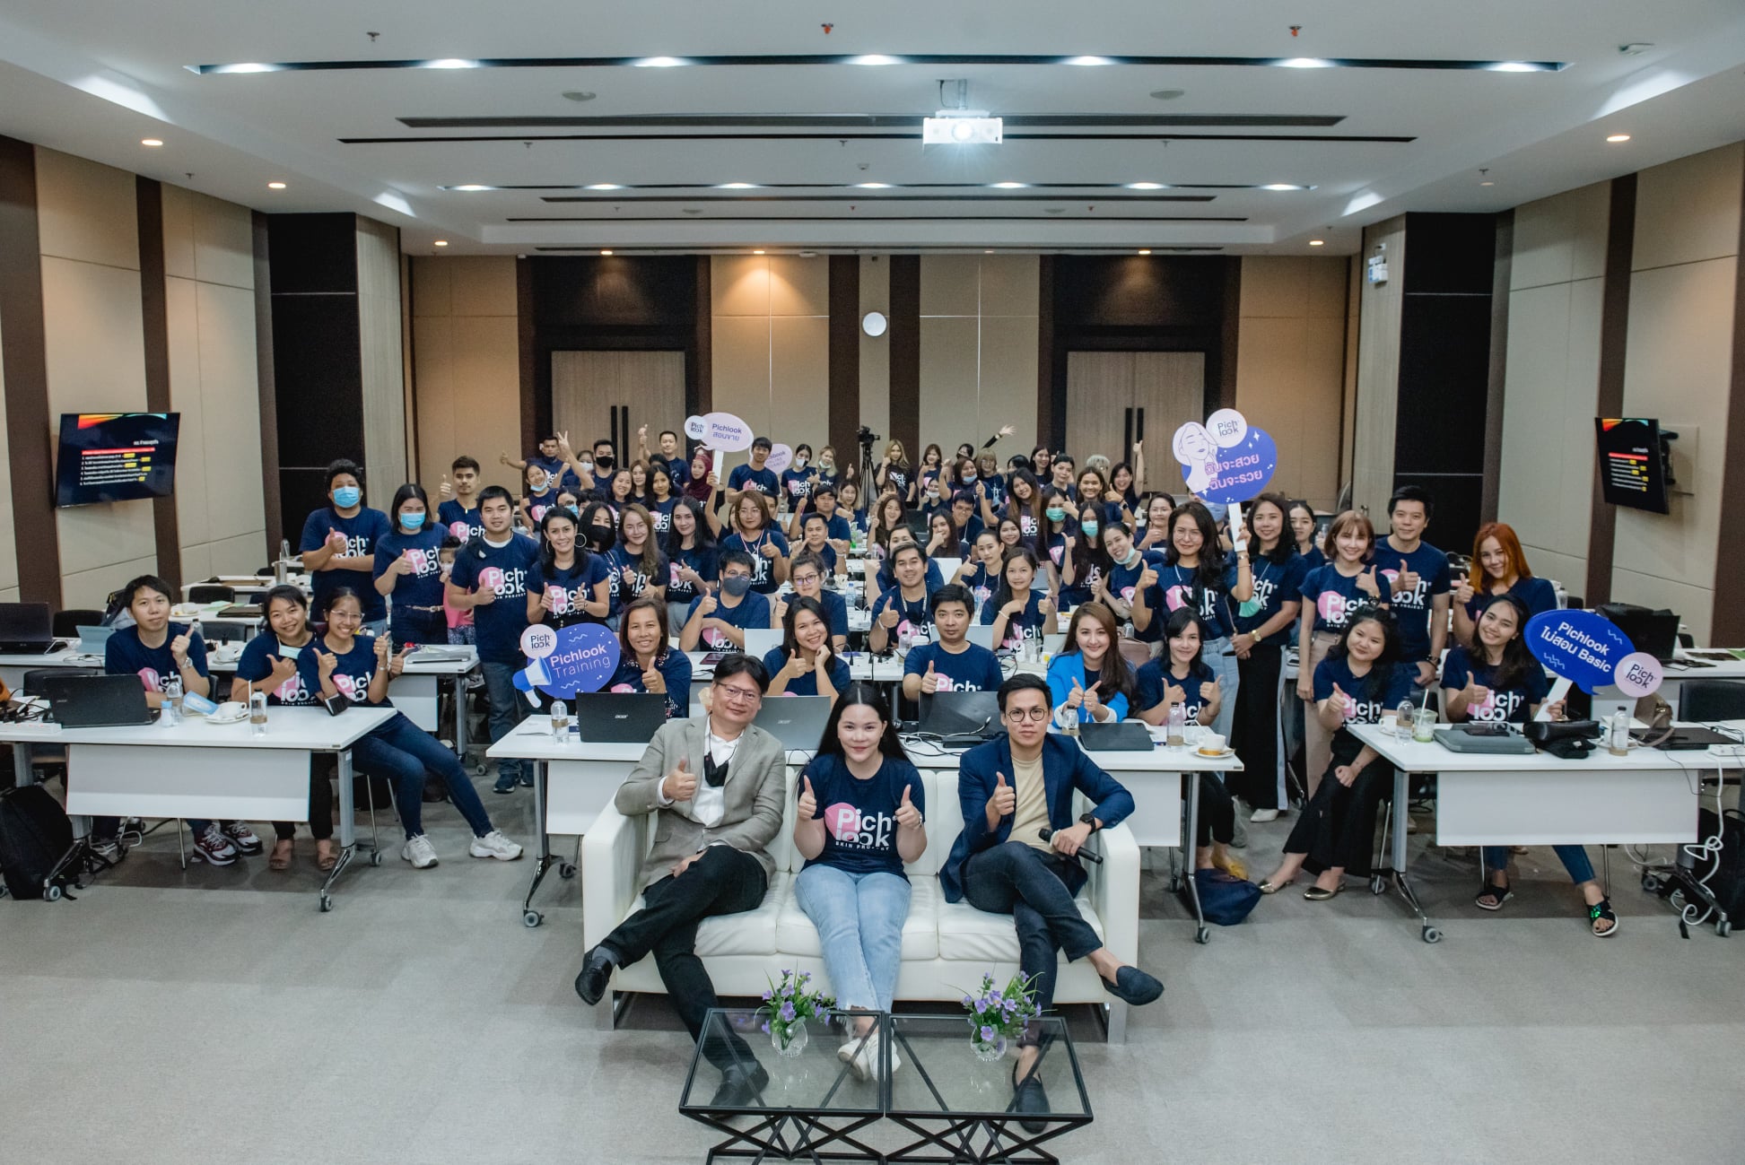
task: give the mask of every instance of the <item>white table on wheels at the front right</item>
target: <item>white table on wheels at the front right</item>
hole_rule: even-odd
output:
[[[1441,931],[1406,879],[1405,804],[1413,773],[1436,774],[1438,846],[1649,846],[1696,841],[1700,774],[1745,767],[1740,757],[1712,748],[1633,746],[1614,757],[1600,746],[1581,760],[1562,760],[1544,752],[1450,752],[1434,741],[1399,739],[1391,726],[1359,724],[1351,732],[1394,766],[1391,869],[1377,870],[1370,889],[1382,893],[1391,879],[1424,942],[1438,942]]]

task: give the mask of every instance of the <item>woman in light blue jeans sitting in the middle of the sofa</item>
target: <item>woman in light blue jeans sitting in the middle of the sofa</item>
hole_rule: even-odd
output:
[[[850,684],[831,710],[818,755],[799,774],[794,846],[806,858],[794,881],[799,909],[818,928],[824,970],[845,1012],[890,1012],[902,966],[909,879],[927,851],[921,774],[897,741],[885,696]],[[838,1053],[857,1076],[878,1073],[871,1015],[850,1019]],[[890,1053],[897,1071],[897,1052]]]

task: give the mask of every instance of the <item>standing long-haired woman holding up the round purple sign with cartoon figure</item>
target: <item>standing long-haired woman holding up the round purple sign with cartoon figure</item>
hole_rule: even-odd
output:
[[[1223,705],[1218,708],[1216,731],[1230,738],[1234,701],[1242,678],[1235,670],[1235,605],[1255,596],[1255,576],[1248,565],[1248,542],[1239,542],[1234,562],[1218,544],[1218,527],[1199,502],[1188,502],[1169,516],[1169,549],[1164,551],[1164,569],[1159,582],[1134,595],[1133,624],[1150,626],[1176,607],[1194,607],[1201,621],[1201,640],[1206,663],[1223,687]]]

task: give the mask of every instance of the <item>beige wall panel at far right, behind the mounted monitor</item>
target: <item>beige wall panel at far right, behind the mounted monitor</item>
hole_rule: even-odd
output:
[[[1672,514],[1618,509],[1612,598],[1672,607],[1698,642],[1714,614],[1745,143],[1637,176],[1625,415],[1675,429]],[[1738,548],[1728,548],[1738,555]]]

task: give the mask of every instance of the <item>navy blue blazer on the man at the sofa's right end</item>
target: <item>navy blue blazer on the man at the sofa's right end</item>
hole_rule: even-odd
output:
[[[1000,818],[998,828],[988,828],[988,801],[993,799],[996,773],[1005,773],[1005,780],[1010,783],[1012,771],[1012,741],[1005,736],[970,748],[958,762],[958,804],[963,809],[963,832],[951,844],[951,856],[939,870],[939,886],[946,891],[946,902],[963,900],[963,865],[970,856],[1010,839],[1010,813]],[[1113,776],[1096,767],[1077,741],[1054,732],[1042,741],[1042,787],[1052,828],[1077,825],[1073,790],[1082,792],[1096,804],[1094,813],[1103,821],[1103,828],[1120,825],[1133,813],[1133,794]],[[1084,870],[1077,870],[1066,881],[1066,888],[1077,895],[1084,882]]]

